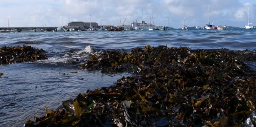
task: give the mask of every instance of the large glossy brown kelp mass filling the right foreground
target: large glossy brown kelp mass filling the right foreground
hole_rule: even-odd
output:
[[[255,52],[145,46],[105,50],[80,67],[133,72],[26,126],[255,126]]]

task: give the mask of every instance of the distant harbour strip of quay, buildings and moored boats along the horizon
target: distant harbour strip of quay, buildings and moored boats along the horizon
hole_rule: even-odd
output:
[[[125,20],[124,20],[125,22]],[[155,26],[145,21],[137,22],[133,21],[130,26],[121,24],[121,26],[99,26],[96,22],[83,22],[83,21],[73,21],[66,24],[62,27],[2,27],[0,32],[68,32],[68,31],[98,31],[98,30],[108,30],[108,31],[122,31],[122,30],[172,30],[174,28],[170,26]],[[213,24],[206,24],[204,27],[194,26],[187,27],[184,26],[180,29],[216,29],[216,30],[225,30],[225,29],[234,29],[239,27],[230,27],[230,26],[215,26]],[[244,26],[245,29],[253,29],[255,26]]]

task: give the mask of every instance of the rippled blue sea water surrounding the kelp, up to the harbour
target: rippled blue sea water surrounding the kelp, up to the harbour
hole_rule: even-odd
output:
[[[23,126],[27,120],[57,109],[88,89],[111,86],[132,74],[102,74],[77,67],[94,50],[146,45],[191,49],[256,50],[256,29],[154,30],[122,32],[0,33],[0,47],[29,45],[43,49],[48,60],[0,65],[0,126]],[[256,68],[255,63],[250,65]]]

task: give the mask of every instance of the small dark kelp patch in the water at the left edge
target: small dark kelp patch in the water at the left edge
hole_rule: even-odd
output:
[[[47,59],[43,49],[31,46],[2,46],[0,47],[0,64],[23,63]]]

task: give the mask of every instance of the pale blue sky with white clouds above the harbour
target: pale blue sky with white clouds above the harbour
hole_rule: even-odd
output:
[[[59,27],[72,21],[120,26],[151,19],[156,26],[174,28],[184,21],[189,27],[209,22],[243,27],[248,9],[256,26],[255,0],[1,0],[0,27]]]

